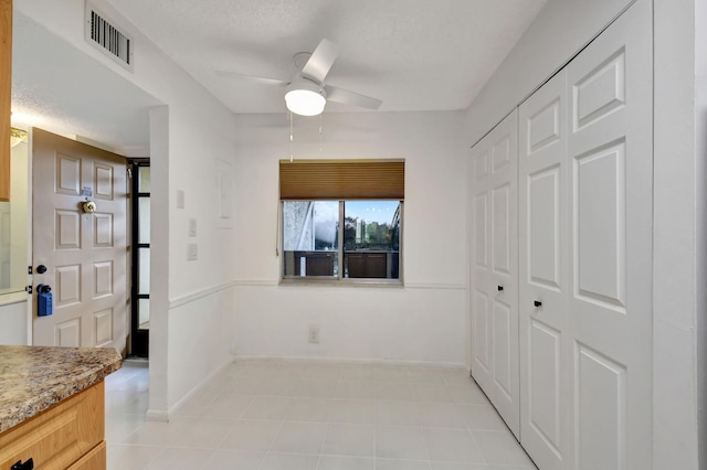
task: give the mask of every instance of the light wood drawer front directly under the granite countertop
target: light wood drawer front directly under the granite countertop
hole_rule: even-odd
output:
[[[103,381],[0,434],[0,469],[34,459],[42,470],[65,469],[104,438]]]

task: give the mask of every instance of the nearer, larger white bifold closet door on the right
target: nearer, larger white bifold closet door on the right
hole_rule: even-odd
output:
[[[652,42],[640,0],[519,108],[520,440],[650,469]]]

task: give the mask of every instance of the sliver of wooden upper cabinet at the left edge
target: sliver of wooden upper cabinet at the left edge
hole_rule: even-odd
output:
[[[0,201],[10,200],[10,87],[12,0],[0,0]]]

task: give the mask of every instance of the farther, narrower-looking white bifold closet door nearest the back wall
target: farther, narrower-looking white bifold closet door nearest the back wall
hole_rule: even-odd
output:
[[[518,113],[472,149],[472,375],[520,436]]]

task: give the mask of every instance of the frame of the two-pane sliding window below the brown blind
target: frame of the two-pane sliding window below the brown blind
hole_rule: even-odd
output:
[[[289,201],[314,201],[314,200],[289,200]],[[404,200],[388,200],[388,201],[397,201],[400,204],[400,225],[399,225],[399,248],[398,248],[398,278],[389,279],[389,278],[348,278],[345,277],[345,249],[344,249],[344,231],[345,231],[345,204],[347,202],[346,199],[333,199],[329,201],[336,201],[339,204],[339,217],[338,217],[338,229],[337,229],[337,256],[339,259],[339,269],[336,277],[334,276],[295,276],[295,275],[285,275],[285,237],[284,237],[284,214],[285,214],[285,201],[281,200],[278,205],[278,248],[281,256],[279,263],[279,284],[281,285],[328,285],[328,286],[369,286],[369,287],[404,287],[404,269],[403,269],[403,234],[404,234],[404,209],[405,203]],[[355,201],[349,199],[348,201]],[[371,199],[370,201],[383,201],[379,199]],[[386,252],[388,253],[388,252]]]

